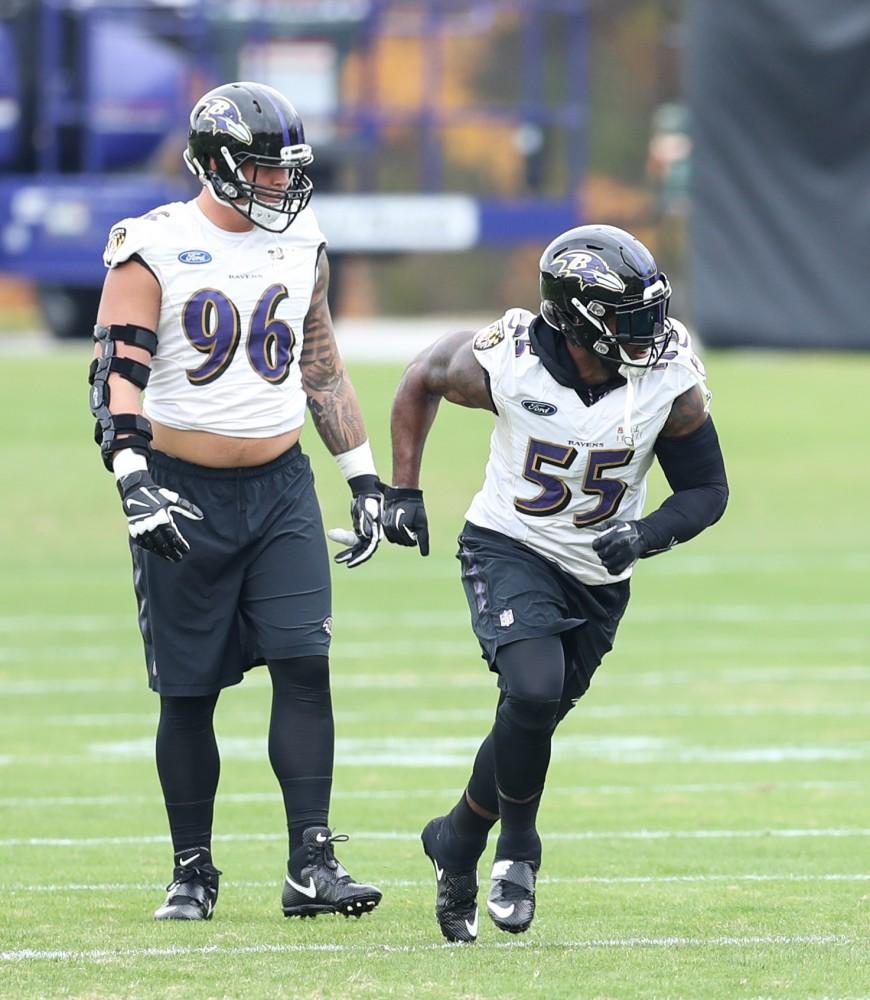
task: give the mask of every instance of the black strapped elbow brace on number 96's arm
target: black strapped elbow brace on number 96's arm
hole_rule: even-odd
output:
[[[157,336],[141,326],[95,326],[94,340],[100,345],[101,354],[91,362],[88,382],[91,386],[91,413],[96,417],[94,440],[100,446],[103,464],[111,472],[115,452],[129,448],[147,459],[151,452],[151,422],[139,413],[112,413],[109,409],[111,392],[109,376],[114,372],[132,382],[137,389],[148,384],[151,369],[132,358],[122,358],[115,353],[115,344],[121,341],[139,347],[153,355],[157,350]]]

